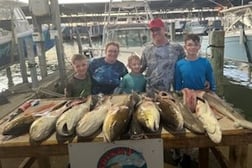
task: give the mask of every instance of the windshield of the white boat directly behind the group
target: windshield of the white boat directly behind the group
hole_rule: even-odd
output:
[[[141,47],[150,40],[148,29],[117,29],[109,33],[108,39],[117,41],[121,47]]]

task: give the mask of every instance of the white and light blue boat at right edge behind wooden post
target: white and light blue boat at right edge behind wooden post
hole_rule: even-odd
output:
[[[252,63],[252,4],[230,7],[221,11],[225,31],[224,58]],[[207,49],[208,37],[202,37],[202,53]]]

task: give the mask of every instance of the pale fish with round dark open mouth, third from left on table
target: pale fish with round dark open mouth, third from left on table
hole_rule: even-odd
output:
[[[88,96],[84,103],[73,106],[64,112],[56,122],[56,132],[60,136],[71,136],[79,120],[90,111],[92,96]]]

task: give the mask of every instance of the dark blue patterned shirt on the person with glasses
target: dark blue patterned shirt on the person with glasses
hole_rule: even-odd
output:
[[[121,78],[128,73],[122,62],[117,60],[109,64],[105,62],[104,57],[91,60],[89,71],[92,78],[92,94],[112,94],[119,86]]]

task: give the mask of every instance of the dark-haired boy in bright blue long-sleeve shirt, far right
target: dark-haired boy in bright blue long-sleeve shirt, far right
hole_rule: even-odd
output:
[[[206,58],[198,55],[200,38],[195,34],[188,34],[184,39],[186,57],[179,60],[175,66],[175,90],[189,88],[216,91],[213,69]]]

